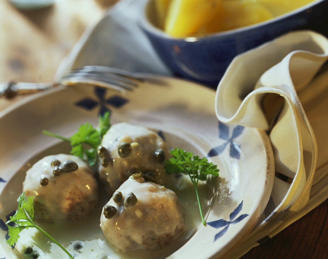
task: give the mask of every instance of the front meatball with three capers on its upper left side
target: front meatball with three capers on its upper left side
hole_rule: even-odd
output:
[[[100,227],[122,251],[156,249],[185,229],[184,212],[174,191],[130,176],[104,206]]]

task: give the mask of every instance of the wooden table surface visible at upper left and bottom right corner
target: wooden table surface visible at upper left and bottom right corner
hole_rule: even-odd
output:
[[[87,26],[114,0],[62,0],[19,11],[0,0],[0,81],[49,82]],[[24,98],[0,99],[0,110]],[[243,258],[328,258],[328,201]]]

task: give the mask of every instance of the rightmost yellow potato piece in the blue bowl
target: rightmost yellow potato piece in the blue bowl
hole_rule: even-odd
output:
[[[256,0],[259,4],[266,7],[274,16],[296,10],[307,5],[313,0]]]

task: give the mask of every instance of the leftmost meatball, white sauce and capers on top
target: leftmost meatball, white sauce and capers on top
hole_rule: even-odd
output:
[[[23,191],[34,196],[35,217],[48,222],[81,218],[92,211],[99,198],[89,165],[65,154],[36,162],[26,172]]]

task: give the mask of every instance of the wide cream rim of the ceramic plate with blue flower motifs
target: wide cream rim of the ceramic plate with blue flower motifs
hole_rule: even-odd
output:
[[[196,83],[149,76],[124,96],[90,86],[57,88],[0,113],[0,258],[17,256],[6,244],[4,222],[17,208],[15,200],[22,191],[24,171],[31,166],[26,163],[58,143],[41,131],[70,136],[82,123],[96,124],[98,113],[108,109],[113,123],[129,121],[147,126],[158,131],[169,146],[209,156],[217,164],[220,178],[206,213],[208,225],[199,224],[189,241],[170,257],[225,255],[256,225],[267,205],[274,163],[266,134],[219,123],[214,100],[213,90]],[[85,235],[87,239],[88,233]],[[101,257],[94,253],[94,258]]]

